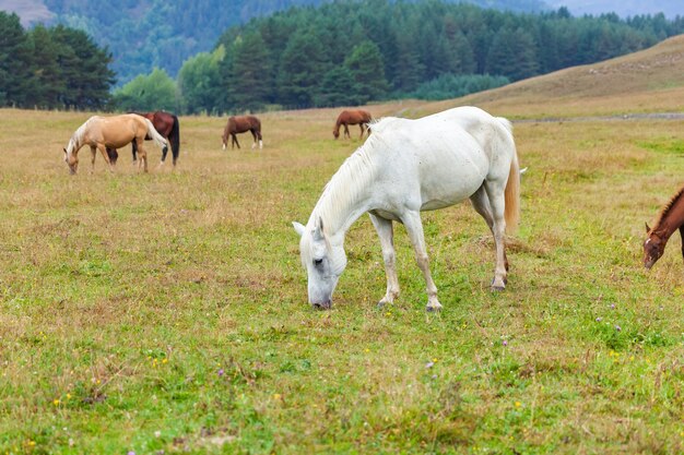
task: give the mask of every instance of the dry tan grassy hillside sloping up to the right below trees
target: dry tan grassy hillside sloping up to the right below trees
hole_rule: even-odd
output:
[[[431,109],[449,104],[453,100],[432,104]],[[684,35],[627,56],[467,96],[458,104],[485,106],[518,118],[681,111]]]

